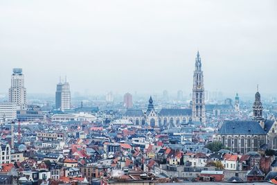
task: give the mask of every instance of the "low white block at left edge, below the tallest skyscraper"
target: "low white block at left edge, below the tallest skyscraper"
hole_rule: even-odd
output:
[[[0,121],[10,121],[17,118],[17,104],[0,102]]]

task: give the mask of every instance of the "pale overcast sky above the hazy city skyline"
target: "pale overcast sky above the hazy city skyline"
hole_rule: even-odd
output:
[[[206,90],[276,94],[277,1],[0,1],[2,93],[190,92],[197,50]]]

